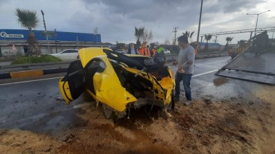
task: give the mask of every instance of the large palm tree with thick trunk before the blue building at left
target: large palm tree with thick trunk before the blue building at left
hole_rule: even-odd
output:
[[[32,32],[32,29],[35,29],[38,26],[39,22],[36,11],[16,8],[15,15],[18,17],[17,22],[19,22],[22,27],[29,30],[29,37],[27,40],[27,43],[29,44],[28,55],[32,56],[33,54],[35,54],[36,56],[40,56],[40,45],[38,45],[36,36]]]

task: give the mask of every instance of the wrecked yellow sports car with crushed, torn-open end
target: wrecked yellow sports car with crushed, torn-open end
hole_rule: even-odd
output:
[[[122,118],[130,108],[143,105],[173,104],[174,80],[164,61],[100,47],[79,49],[79,57],[59,81],[68,104],[87,91],[102,103],[105,118]]]

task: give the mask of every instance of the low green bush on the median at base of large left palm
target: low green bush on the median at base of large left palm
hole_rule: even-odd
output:
[[[51,56],[51,55],[42,55],[40,57],[20,56],[20,57],[17,57],[17,60],[13,61],[13,63],[11,64],[14,65],[14,64],[21,64],[21,63],[43,63],[43,62],[56,62],[56,61],[61,61],[61,59],[58,59],[57,57]]]

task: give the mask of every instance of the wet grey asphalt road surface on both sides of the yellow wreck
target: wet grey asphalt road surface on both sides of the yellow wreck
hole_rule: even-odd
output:
[[[230,57],[226,56],[196,61],[194,77],[191,80],[194,99],[204,99],[204,95],[215,99],[230,99],[239,95],[249,98],[253,93],[251,87],[266,86],[236,79],[229,79],[228,84],[219,87],[214,86],[213,79],[217,78],[214,75],[217,71],[214,70],[221,68],[229,60]],[[205,72],[209,73],[203,75]],[[39,78],[42,80],[33,82],[23,82],[26,79],[0,80],[0,129],[19,128],[56,134],[80,125],[81,118],[76,114],[81,112],[81,109],[74,108],[92,99],[88,95],[81,95],[70,105],[66,105],[58,88],[58,77],[61,76],[63,74],[45,75]],[[12,82],[22,83],[10,84]],[[184,98],[183,95],[181,97]]]

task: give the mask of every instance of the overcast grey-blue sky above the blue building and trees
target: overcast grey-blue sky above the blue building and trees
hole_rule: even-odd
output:
[[[25,8],[37,12],[40,19],[37,30],[43,30],[40,12],[43,10],[47,30],[93,33],[98,27],[103,43],[134,43],[134,26],[152,30],[152,42],[164,43],[166,39],[171,42],[175,26],[177,36],[195,31],[194,41],[201,8],[201,0],[0,0],[0,3],[0,29],[22,29],[15,8]],[[258,27],[274,26],[274,6],[274,0],[204,0],[201,34],[255,29],[257,15],[246,13],[265,10],[270,12],[259,15]],[[268,34],[272,38],[272,33]],[[234,37],[232,43],[237,43],[248,40],[250,33],[219,36],[218,43],[225,44],[228,36]]]

